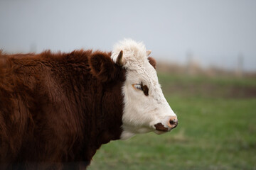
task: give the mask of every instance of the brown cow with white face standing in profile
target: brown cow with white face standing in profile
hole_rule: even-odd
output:
[[[86,169],[101,145],[178,125],[143,42],[0,53],[0,168]]]

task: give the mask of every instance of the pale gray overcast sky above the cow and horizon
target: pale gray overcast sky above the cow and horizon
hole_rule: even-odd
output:
[[[255,0],[1,0],[0,48],[41,52],[112,50],[124,38],[143,41],[157,60],[233,69],[238,55],[256,71]]]

